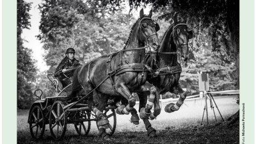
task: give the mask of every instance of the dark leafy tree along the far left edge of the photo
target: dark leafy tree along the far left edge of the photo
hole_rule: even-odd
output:
[[[22,29],[29,29],[31,3],[17,1],[17,107],[29,108],[33,99],[36,67],[31,58],[31,49],[24,47],[21,38]]]

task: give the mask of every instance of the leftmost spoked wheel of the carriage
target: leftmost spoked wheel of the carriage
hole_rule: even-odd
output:
[[[36,140],[43,138],[45,131],[44,113],[40,106],[35,106],[29,113],[29,129],[32,138]]]

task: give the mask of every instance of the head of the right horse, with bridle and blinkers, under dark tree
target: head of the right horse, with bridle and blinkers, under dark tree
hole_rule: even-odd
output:
[[[180,59],[182,61],[187,61],[189,58],[189,47],[188,41],[193,38],[193,31],[188,28],[186,24],[186,19],[182,22],[178,22],[177,13],[174,15],[174,25],[173,25],[173,40],[177,46],[177,51],[180,54]]]

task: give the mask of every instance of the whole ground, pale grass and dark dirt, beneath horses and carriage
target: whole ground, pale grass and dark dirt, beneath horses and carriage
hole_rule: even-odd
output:
[[[220,113],[224,119],[233,115],[239,109],[234,97],[214,97]],[[239,143],[239,125],[223,129],[220,114],[215,105],[214,111],[218,120],[215,123],[213,111],[208,102],[208,126],[200,126],[204,111],[204,99],[186,100],[179,111],[166,113],[162,108],[156,120],[150,121],[157,130],[156,138],[148,138],[143,121],[133,125],[129,121],[131,115],[116,115],[117,125],[111,141],[102,140],[97,136],[97,126],[92,122],[88,136],[78,136],[74,125],[68,125],[66,134],[61,141],[51,138],[49,125],[45,127],[44,140],[35,141],[31,138],[28,125],[29,110],[18,110],[17,113],[17,141],[18,143]],[[164,104],[163,104],[164,107]],[[135,106],[138,109],[138,106]],[[206,118],[204,117],[204,124]]]

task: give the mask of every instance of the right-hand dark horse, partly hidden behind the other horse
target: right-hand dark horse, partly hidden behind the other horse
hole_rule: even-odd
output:
[[[193,32],[188,28],[186,20],[177,21],[177,13],[173,18],[174,23],[164,33],[161,47],[157,52],[147,54],[147,65],[154,69],[154,75],[148,77],[148,82],[159,88],[161,94],[172,92],[179,94],[180,98],[176,104],[168,104],[165,111],[171,113],[177,111],[186,99],[186,94],[179,84],[180,73],[182,71],[178,60],[187,61],[189,56],[188,40],[193,38]],[[143,120],[154,118],[150,115],[152,106],[147,104],[147,93],[139,92],[140,97],[140,117]],[[140,95],[144,95],[140,96]],[[143,103],[144,102],[144,103]],[[149,116],[149,117],[148,117]],[[150,127],[147,122],[146,128]]]

